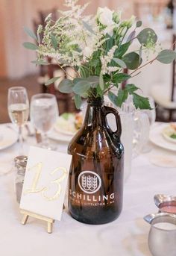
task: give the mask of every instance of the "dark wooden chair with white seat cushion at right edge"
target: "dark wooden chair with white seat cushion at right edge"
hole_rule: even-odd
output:
[[[173,50],[175,51],[176,35],[173,35]],[[156,84],[151,87],[151,96],[156,104],[156,120],[160,122],[176,121],[176,95],[175,95],[175,61],[172,63],[172,84]]]

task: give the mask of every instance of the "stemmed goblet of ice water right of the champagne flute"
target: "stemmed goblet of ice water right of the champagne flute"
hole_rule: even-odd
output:
[[[43,134],[43,140],[39,143],[43,149],[55,149],[55,146],[49,143],[47,134],[55,124],[58,115],[57,100],[53,94],[39,93],[32,96],[31,122],[34,128]]]

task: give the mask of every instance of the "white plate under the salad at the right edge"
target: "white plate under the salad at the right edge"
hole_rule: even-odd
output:
[[[168,124],[163,124],[152,128],[149,138],[151,142],[154,143],[155,145],[160,146],[163,149],[168,149],[176,152],[176,144],[170,143],[163,137],[163,129],[167,126]]]

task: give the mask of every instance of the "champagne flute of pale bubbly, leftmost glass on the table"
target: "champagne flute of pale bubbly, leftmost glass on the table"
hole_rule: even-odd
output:
[[[23,154],[22,127],[28,121],[29,115],[28,93],[25,87],[10,87],[7,105],[11,122],[19,127],[19,154]]]

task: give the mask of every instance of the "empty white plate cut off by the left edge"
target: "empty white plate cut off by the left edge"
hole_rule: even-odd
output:
[[[7,149],[18,140],[18,134],[13,128],[2,126],[0,128],[0,150]]]

